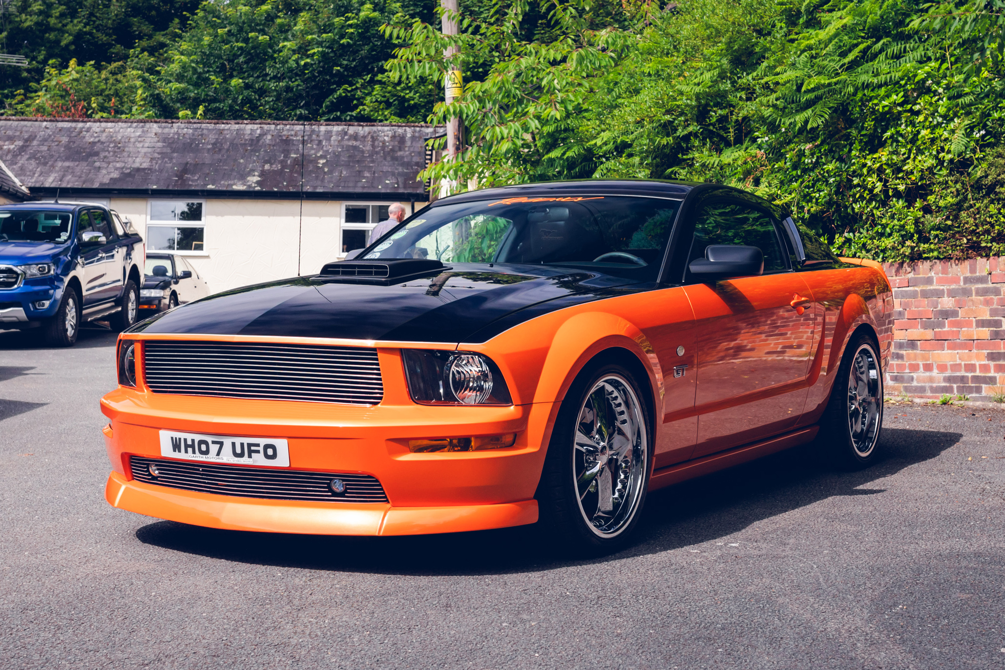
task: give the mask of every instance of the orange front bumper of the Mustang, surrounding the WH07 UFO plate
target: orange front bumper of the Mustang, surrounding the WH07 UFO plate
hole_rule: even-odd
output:
[[[382,354],[382,359],[384,355]],[[400,366],[397,356],[392,361]],[[382,369],[385,369],[382,360]],[[401,376],[403,377],[403,376]],[[347,535],[457,532],[534,523],[556,403],[428,407],[385,375],[374,407],[170,396],[120,388],[102,400],[114,472],[106,497],[122,509],[216,528]],[[164,458],[159,431],[285,438],[290,469],[369,474],[388,503],[304,502],[186,491],[135,480],[130,455]],[[408,440],[518,433],[515,446],[412,453]]]

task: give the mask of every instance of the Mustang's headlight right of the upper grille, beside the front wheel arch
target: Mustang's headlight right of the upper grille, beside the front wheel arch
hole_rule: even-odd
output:
[[[406,349],[402,358],[420,405],[513,405],[498,367],[480,354]]]

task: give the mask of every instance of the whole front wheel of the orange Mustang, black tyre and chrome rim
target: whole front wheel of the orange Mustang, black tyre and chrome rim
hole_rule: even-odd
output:
[[[541,529],[558,548],[616,551],[638,523],[653,448],[644,388],[624,367],[601,364],[562,401],[536,495]]]

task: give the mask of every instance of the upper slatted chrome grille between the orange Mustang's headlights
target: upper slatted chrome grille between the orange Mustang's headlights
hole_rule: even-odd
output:
[[[384,398],[375,349],[147,341],[143,360],[154,393],[346,405]]]

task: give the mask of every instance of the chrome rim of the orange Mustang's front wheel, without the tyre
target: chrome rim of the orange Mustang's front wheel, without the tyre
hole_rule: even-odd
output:
[[[608,375],[593,385],[574,439],[579,510],[595,534],[616,535],[638,509],[648,467],[645,421],[625,379]]]

